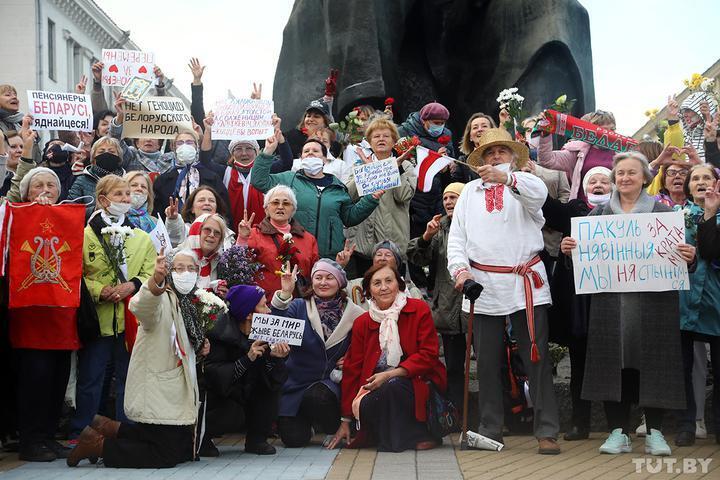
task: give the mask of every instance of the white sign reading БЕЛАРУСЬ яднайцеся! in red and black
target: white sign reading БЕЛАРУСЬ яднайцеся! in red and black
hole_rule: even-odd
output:
[[[35,130],[93,130],[90,95],[28,90],[28,113]]]

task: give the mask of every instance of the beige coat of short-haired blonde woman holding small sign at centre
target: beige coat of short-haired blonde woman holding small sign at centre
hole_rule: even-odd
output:
[[[417,176],[415,167],[409,161],[405,160],[402,167],[400,186],[386,191],[370,216],[357,227],[347,230],[346,237],[354,241],[356,251],[366,257],[372,257],[375,244],[390,240],[395,242],[405,258],[410,241],[410,200],[415,195]],[[354,177],[350,178],[347,187],[350,198],[357,202],[359,197]]]

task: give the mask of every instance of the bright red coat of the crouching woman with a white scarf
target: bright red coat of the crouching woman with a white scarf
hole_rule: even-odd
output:
[[[341,410],[342,415],[352,417],[352,401],[372,376],[380,359],[380,324],[364,313],[355,320],[350,349],[343,364]],[[447,388],[447,373],[439,356],[437,331],[430,307],[422,300],[408,298],[398,318],[400,346],[403,360],[399,367],[408,371],[415,393],[415,418],[427,420],[425,403],[428,399],[426,380],[444,392]]]

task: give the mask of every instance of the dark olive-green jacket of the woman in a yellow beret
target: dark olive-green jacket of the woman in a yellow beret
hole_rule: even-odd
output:
[[[455,280],[447,269],[447,241],[450,234],[450,217],[440,219],[440,230],[426,242],[422,236],[410,241],[407,249],[408,261],[415,265],[433,267],[436,272],[435,288],[430,307],[435,328],[445,335],[456,335],[467,330],[461,326],[462,293],[455,290]]]

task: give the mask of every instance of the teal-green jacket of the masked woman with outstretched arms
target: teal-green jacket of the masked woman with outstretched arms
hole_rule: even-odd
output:
[[[258,155],[250,183],[263,193],[276,185],[290,187],[298,202],[295,220],[315,235],[321,258],[335,259],[345,246],[343,227],[352,227],[365,220],[378,206],[378,201],[371,195],[365,195],[353,203],[347,187],[335,176],[333,183],[320,191],[302,170],[271,174],[272,163],[272,156]]]

